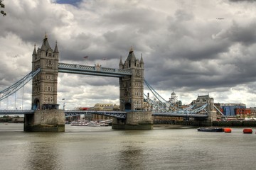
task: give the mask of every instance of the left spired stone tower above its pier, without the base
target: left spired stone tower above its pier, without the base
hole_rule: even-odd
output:
[[[58,60],[57,42],[55,50],[50,47],[47,35],[43,39],[41,48],[33,50],[32,71],[41,69],[32,82],[32,109],[58,109]]]

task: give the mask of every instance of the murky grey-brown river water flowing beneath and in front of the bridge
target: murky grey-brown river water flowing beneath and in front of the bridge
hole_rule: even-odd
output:
[[[255,169],[256,129],[243,134],[196,128],[112,130],[65,126],[65,132],[23,132],[0,123],[0,169]]]

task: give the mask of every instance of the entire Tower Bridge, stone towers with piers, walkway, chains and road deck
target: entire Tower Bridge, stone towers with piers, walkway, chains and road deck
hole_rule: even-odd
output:
[[[103,77],[116,77],[119,79],[119,112],[100,111],[64,111],[60,110],[57,103],[58,73],[85,74]],[[113,129],[152,129],[152,115],[178,116],[189,118],[203,118],[209,121],[213,115],[213,98],[199,99],[197,108],[186,111],[165,111],[165,113],[151,113],[144,111],[144,61],[141,56],[138,60],[134,51],[129,50],[127,59],[119,61],[119,68],[87,66],[81,64],[67,64],[59,62],[59,51],[57,42],[54,50],[48,43],[47,36],[43,39],[41,48],[36,50],[36,45],[32,54],[32,72],[26,77],[16,82],[14,85],[0,91],[0,101],[18,89],[21,89],[32,79],[32,101],[31,110],[0,111],[1,115],[23,114],[25,117],[24,131],[65,131],[65,116],[78,114],[102,114],[109,115]],[[146,82],[146,81],[145,81]],[[147,86],[150,86],[146,82]],[[154,95],[158,95],[151,88]],[[145,98],[147,100],[149,98]],[[148,100],[149,101],[149,100]],[[161,102],[166,104],[166,101]],[[152,103],[150,103],[152,104]],[[201,105],[201,106],[200,106]],[[167,102],[166,108],[171,108]]]

